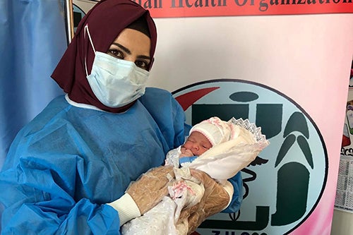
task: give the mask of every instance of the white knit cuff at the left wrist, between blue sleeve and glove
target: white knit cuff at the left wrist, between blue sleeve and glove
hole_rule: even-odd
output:
[[[120,226],[141,215],[138,206],[128,193],[112,203],[107,203],[107,205],[112,206],[119,212]]]

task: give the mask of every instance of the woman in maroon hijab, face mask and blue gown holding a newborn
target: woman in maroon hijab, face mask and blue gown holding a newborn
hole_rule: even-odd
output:
[[[172,169],[152,168],[183,143],[187,127],[169,92],[145,89],[156,41],[150,14],[130,0],[101,0],[81,20],[52,74],[67,95],[18,133],[6,157],[2,234],[119,234],[167,193],[168,179],[156,176]],[[190,212],[190,231],[229,203],[207,174],[193,176],[210,190]],[[240,175],[232,183],[234,211]]]

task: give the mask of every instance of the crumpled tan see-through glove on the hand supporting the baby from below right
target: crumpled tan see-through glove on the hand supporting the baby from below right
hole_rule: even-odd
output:
[[[184,208],[181,211],[177,226],[178,223],[185,223],[187,221],[186,224],[188,224],[189,227],[188,234],[195,231],[207,217],[224,210],[230,200],[229,194],[225,191],[225,188],[210,178],[208,174],[196,169],[191,169],[190,171],[193,177],[203,183],[205,193],[200,203],[193,207]]]

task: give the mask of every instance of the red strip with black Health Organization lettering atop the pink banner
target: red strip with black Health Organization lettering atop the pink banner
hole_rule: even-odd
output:
[[[352,0],[136,0],[155,18],[352,13]]]

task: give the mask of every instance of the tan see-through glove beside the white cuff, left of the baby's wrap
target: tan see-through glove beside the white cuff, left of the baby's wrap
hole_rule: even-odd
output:
[[[172,166],[156,167],[131,183],[126,193],[133,198],[140,214],[143,215],[168,195],[167,187],[172,179],[174,179]]]

